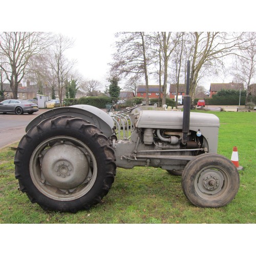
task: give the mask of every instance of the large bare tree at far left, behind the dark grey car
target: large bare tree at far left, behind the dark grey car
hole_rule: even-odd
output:
[[[13,97],[17,98],[18,84],[27,72],[30,58],[47,47],[48,35],[42,32],[2,32],[0,34],[0,63],[6,79],[10,82]]]

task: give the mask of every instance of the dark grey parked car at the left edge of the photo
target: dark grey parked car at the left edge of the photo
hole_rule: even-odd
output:
[[[15,113],[22,115],[23,113],[33,114],[38,111],[37,104],[22,99],[6,99],[0,102],[1,113]]]

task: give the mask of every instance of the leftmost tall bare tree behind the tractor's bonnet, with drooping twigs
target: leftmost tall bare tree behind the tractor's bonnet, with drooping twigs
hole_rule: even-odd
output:
[[[111,63],[113,76],[143,76],[146,85],[146,104],[148,105],[148,66],[152,63],[149,51],[150,41],[145,32],[119,32],[116,41],[114,62]]]

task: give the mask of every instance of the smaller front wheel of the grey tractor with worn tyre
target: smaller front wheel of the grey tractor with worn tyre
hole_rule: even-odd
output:
[[[218,154],[203,154],[188,162],[182,173],[187,199],[199,207],[221,207],[231,202],[239,189],[234,164]]]

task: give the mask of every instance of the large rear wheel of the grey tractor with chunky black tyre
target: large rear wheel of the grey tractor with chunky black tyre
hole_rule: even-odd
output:
[[[31,127],[14,163],[20,189],[45,210],[89,209],[108,194],[116,174],[108,138],[95,125],[68,116]]]

